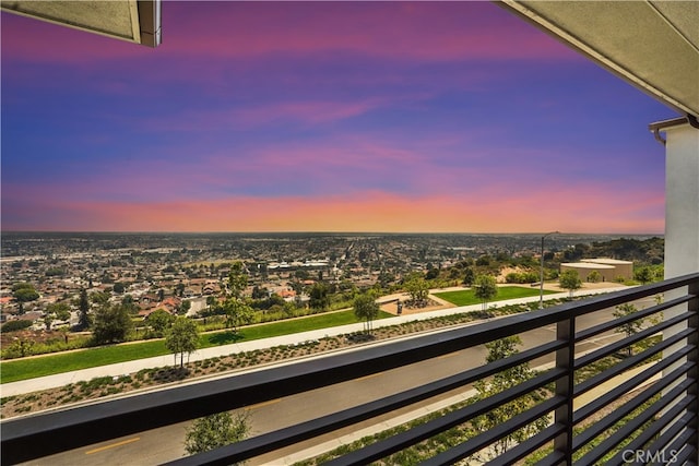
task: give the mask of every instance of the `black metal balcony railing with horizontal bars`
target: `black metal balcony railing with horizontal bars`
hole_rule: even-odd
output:
[[[581,316],[603,310],[608,312],[616,306],[661,295],[665,296],[664,302],[624,318],[611,318],[603,323],[577,330]],[[451,390],[469,386],[502,370],[542,357],[553,358],[555,362],[549,370],[538,372],[526,382],[341,456],[331,464],[359,465],[387,457],[543,387],[549,389],[550,396],[546,399],[495,429],[445,450],[429,458],[426,464],[448,465],[469,458],[499,439],[542,418],[548,419],[548,427],[514,445],[494,463],[514,464],[540,451],[540,456],[544,455],[541,464],[546,465],[594,464],[602,458],[605,458],[605,464],[663,464],[670,459],[673,464],[696,464],[698,296],[699,273],[695,273],[407,340],[367,346],[356,351],[75,409],[9,419],[1,425],[2,464],[39,458],[224,410],[244,408],[550,325],[556,327],[556,335],[550,342],[509,358],[484,363],[462,373],[340,413],[185,457],[173,464],[226,465],[249,459]],[[614,343],[590,353],[580,351],[581,345],[585,342],[602,334],[614,333],[620,325],[633,320],[660,313],[664,314],[664,319],[645,325],[636,333],[629,333],[626,337],[619,336]],[[662,338],[656,337],[660,334],[663,335]],[[617,362],[603,371],[584,380],[577,380],[577,374],[591,365],[604,358],[618,356],[625,348],[650,339],[653,343],[645,345],[645,349],[632,356],[617,357]],[[648,383],[649,380],[655,381]],[[584,405],[576,402],[577,398],[579,401],[581,396],[589,395],[591,391],[595,394],[591,402]],[[619,406],[621,397],[624,403]],[[629,418],[631,413],[639,410],[640,414]],[[600,416],[599,413],[606,414]],[[584,429],[581,428],[584,421],[593,418],[593,423],[588,422]],[[621,419],[623,426],[608,433],[609,427],[619,426]],[[542,449],[545,449],[543,453]]]

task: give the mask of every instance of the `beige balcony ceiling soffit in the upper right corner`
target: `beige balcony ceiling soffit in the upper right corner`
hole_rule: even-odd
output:
[[[680,113],[699,116],[698,1],[502,4]]]

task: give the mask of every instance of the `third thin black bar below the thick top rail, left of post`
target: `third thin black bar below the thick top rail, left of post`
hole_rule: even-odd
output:
[[[559,398],[559,399],[557,399]],[[457,462],[469,457],[470,455],[483,450],[484,447],[497,442],[498,440],[516,432],[517,430],[523,428],[524,426],[529,426],[537,419],[550,414],[554,409],[562,406],[567,403],[564,397],[553,397],[546,399],[536,406],[528,409],[524,413],[514,416],[507,421],[502,422],[499,426],[496,426],[494,429],[489,430],[487,433],[479,434],[473,439],[469,439],[465,442],[462,442],[446,452],[439,453],[438,455],[433,456],[431,458],[426,459],[422,464],[424,466],[447,466],[453,465]],[[545,443],[545,442],[544,442]],[[542,443],[541,445],[543,445]],[[540,446],[541,446],[540,445]],[[497,461],[499,464],[501,463],[499,459]]]

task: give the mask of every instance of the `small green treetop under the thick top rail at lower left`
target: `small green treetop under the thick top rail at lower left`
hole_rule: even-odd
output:
[[[235,416],[230,413],[218,413],[192,422],[185,437],[185,450],[190,455],[208,452],[245,440],[249,433],[247,411]]]

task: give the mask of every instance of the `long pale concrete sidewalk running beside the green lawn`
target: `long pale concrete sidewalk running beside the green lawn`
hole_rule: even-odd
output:
[[[612,292],[618,291],[620,289],[628,289],[628,287],[616,287],[616,288],[603,288],[603,289],[581,289],[576,291],[576,296],[584,296],[584,295],[595,295],[601,292]],[[441,291],[441,290],[439,290]],[[566,298],[568,297],[568,292],[560,292],[555,295],[545,295],[544,298],[556,299],[556,298]],[[518,298],[518,299],[509,299],[503,301],[495,301],[490,303],[490,307],[497,306],[508,306],[516,303],[526,303],[526,302],[536,302],[538,301],[538,296],[530,297],[530,298]],[[396,325],[405,322],[414,322],[420,320],[428,320],[442,315],[451,315],[463,312],[472,312],[478,311],[482,309],[481,304],[474,306],[463,306],[458,308],[447,308],[440,309],[436,311],[422,312],[422,313],[412,313],[407,315],[396,315],[394,318],[381,319],[379,321],[374,322],[374,327],[379,328],[382,326]],[[256,339],[251,342],[242,342],[235,343],[232,345],[223,345],[216,346],[212,348],[204,348],[197,350],[190,355],[190,361],[199,361],[203,359],[213,358],[215,356],[227,356],[232,354],[242,353],[242,351],[251,351],[256,349],[271,348],[280,345],[293,345],[312,339],[320,339],[325,336],[336,336],[342,334],[348,334],[353,332],[359,332],[364,328],[363,323],[350,324],[350,325],[341,325],[329,328],[321,328],[310,332],[301,332],[289,335],[282,335],[272,338],[264,339]],[[28,379],[19,382],[4,383],[0,385],[0,396],[12,396],[19,395],[23,393],[31,393],[40,390],[54,389],[58,386],[68,385],[69,383],[75,383],[80,381],[88,381],[91,379],[97,377],[116,377],[123,375],[133,372],[138,372],[142,369],[152,369],[158,367],[167,367],[173,366],[174,356],[158,356],[155,358],[146,358],[146,359],[138,359],[133,361],[119,362],[109,366],[100,366],[91,369],[82,369],[72,372],[63,372],[54,375],[40,377],[36,379]]]

